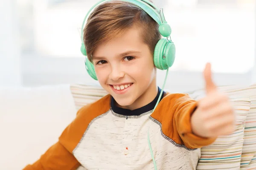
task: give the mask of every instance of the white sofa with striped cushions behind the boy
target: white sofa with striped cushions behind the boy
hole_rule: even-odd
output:
[[[198,170],[256,169],[256,85],[218,87],[230,97],[236,130],[201,148]],[[204,89],[181,91],[194,99]],[[99,85],[0,88],[0,169],[21,170],[57,142],[83,105],[106,95]]]

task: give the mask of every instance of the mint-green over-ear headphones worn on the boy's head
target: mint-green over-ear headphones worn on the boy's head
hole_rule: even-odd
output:
[[[81,27],[81,42],[82,42],[81,53],[84,54],[85,56],[87,56],[87,54],[86,54],[86,48],[85,48],[84,41],[83,41],[84,23],[85,23],[85,20],[87,19],[88,15],[90,14],[90,12],[93,10],[93,8],[95,8],[97,5],[99,5],[99,3],[102,3],[103,1],[111,1],[111,0],[100,0],[98,3],[96,3],[94,6],[92,6],[90,8],[88,13],[84,17],[84,21],[83,21],[83,24]],[[164,18],[163,9],[160,9],[160,11],[158,11],[157,7],[154,6],[154,4],[148,0],[121,0],[121,1],[133,3],[134,5],[139,6],[159,24],[160,34],[166,38],[159,40],[157,42],[157,45],[155,46],[154,65],[156,68],[158,68],[160,70],[166,70],[169,67],[171,67],[175,60],[175,51],[176,50],[175,50],[175,45],[172,42],[171,37],[170,37],[170,35],[172,33],[172,29],[169,26],[169,24],[167,24],[167,22]],[[169,37],[169,39],[168,39],[168,37]],[[90,77],[97,80],[96,73],[94,70],[94,65],[92,62],[89,61],[88,57],[86,57],[86,59],[85,59],[85,67],[86,67],[86,70],[87,70],[88,74],[90,75]]]

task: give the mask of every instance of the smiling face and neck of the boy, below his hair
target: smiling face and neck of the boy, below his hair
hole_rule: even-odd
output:
[[[134,110],[157,95],[153,57],[137,27],[100,44],[93,53],[93,64],[100,85],[119,107]]]

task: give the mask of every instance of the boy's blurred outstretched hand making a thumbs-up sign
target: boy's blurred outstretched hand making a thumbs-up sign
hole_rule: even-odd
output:
[[[198,101],[192,114],[192,132],[201,137],[228,135],[235,130],[235,114],[226,95],[220,93],[212,82],[211,65],[204,70],[206,97]]]

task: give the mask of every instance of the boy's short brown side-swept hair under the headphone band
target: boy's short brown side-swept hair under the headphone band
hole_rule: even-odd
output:
[[[84,45],[87,56],[92,61],[94,49],[132,26],[142,28],[142,39],[148,45],[152,56],[161,35],[158,23],[143,9],[124,1],[113,0],[100,4],[90,14],[84,28]]]

